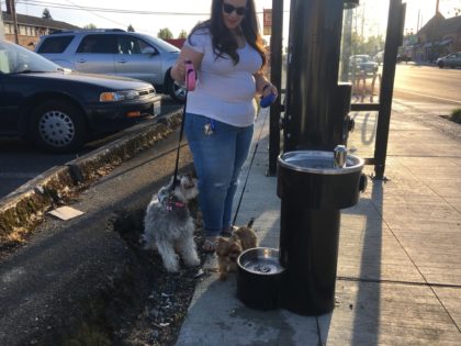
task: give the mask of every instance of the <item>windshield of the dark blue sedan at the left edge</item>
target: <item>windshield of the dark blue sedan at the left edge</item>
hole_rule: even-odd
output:
[[[58,65],[19,45],[0,41],[0,74],[53,72]]]

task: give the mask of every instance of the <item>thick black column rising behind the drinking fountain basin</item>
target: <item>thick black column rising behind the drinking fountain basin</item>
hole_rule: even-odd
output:
[[[292,0],[283,152],[346,144],[350,83],[338,83],[342,15],[358,0]]]

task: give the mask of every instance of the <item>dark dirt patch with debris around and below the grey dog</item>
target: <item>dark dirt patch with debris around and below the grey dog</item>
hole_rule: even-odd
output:
[[[86,302],[87,315],[61,337],[64,345],[175,345],[195,286],[205,274],[183,265],[178,274],[167,272],[157,253],[142,248],[143,219],[144,210],[114,214],[113,230],[135,263],[123,279]],[[203,239],[202,232],[195,232],[196,243]],[[201,254],[202,263],[205,257]]]

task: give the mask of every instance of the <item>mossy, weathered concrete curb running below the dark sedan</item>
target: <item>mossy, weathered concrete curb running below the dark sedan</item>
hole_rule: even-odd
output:
[[[153,126],[130,127],[128,134],[101,148],[53,167],[0,201],[0,249],[21,243],[43,215],[89,183],[151,147],[177,127],[182,109],[165,114]]]

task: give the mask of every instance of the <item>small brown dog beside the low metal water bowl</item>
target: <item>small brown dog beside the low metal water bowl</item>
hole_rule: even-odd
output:
[[[217,238],[217,264],[220,268],[220,280],[226,280],[231,271],[237,270],[237,258],[243,250],[257,246],[258,238],[251,228],[255,219],[251,219],[246,226],[235,230],[231,237]]]

